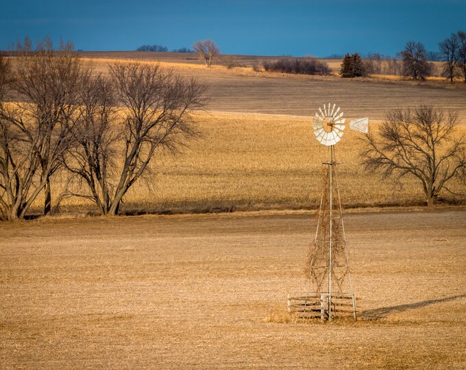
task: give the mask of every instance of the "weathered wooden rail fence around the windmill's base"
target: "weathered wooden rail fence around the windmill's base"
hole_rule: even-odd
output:
[[[354,317],[357,319],[356,298],[350,293],[305,293],[288,296],[288,312],[298,319],[332,320],[335,317]]]

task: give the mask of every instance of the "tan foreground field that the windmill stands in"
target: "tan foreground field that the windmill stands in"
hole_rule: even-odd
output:
[[[308,212],[0,223],[0,367],[466,367],[466,210],[345,214],[357,323],[280,323]],[[275,321],[275,322],[273,322]]]

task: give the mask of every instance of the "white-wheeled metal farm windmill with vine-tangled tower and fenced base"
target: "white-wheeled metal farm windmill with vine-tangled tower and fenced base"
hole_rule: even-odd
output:
[[[308,288],[304,295],[289,297],[289,312],[297,317],[320,317],[332,321],[336,316],[352,315],[356,319],[356,299],[349,273],[348,252],[343,224],[339,182],[336,177],[335,145],[343,137],[345,119],[340,108],[330,103],[319,107],[312,120],[314,134],[329,147],[315,239],[306,261]],[[369,120],[358,119],[350,128],[367,134]]]

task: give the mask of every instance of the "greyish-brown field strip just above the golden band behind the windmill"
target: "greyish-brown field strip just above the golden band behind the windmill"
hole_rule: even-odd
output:
[[[383,119],[395,108],[430,104],[458,110],[466,118],[466,89],[358,82],[339,77],[254,76],[231,77],[224,83],[206,81],[211,86],[210,110],[310,116],[315,107],[336,102],[348,116]]]

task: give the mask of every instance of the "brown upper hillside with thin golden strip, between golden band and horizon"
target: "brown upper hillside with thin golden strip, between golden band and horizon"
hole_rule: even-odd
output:
[[[383,119],[394,108],[412,108],[419,104],[442,106],[458,110],[466,119],[466,88],[458,86],[426,86],[417,82],[387,82],[373,79],[342,79],[336,76],[285,75],[255,73],[250,67],[226,69],[214,66],[207,69],[195,54],[144,52],[82,53],[96,69],[106,73],[107,64],[115,59],[157,62],[165,68],[175,69],[180,75],[197,77],[209,86],[209,110],[219,112],[254,112],[310,116],[323,103],[335,102],[347,117],[369,116]],[[166,55],[165,55],[166,54]],[[112,59],[113,58],[113,59]],[[239,58],[239,56],[238,56]],[[251,64],[251,58],[239,59]],[[271,58],[271,57],[267,57]],[[256,60],[254,59],[254,60]],[[259,58],[260,59],[260,58]],[[332,66],[338,61],[331,60]]]

